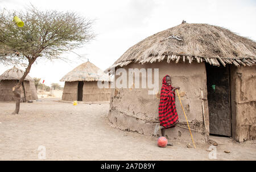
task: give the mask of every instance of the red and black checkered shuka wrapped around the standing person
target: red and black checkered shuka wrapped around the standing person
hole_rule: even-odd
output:
[[[166,77],[163,78],[163,85],[160,94],[160,104],[158,108],[160,126],[164,128],[174,127],[179,121],[175,105],[174,87],[166,83]],[[170,76],[169,76],[170,77]]]

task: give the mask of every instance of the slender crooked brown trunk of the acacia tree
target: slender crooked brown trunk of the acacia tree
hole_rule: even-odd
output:
[[[35,62],[36,58],[33,58],[31,61],[29,61],[28,66],[26,68],[26,71],[24,72],[22,78],[20,78],[18,84],[13,87],[13,93],[15,97],[15,102],[16,102],[16,107],[15,111],[13,112],[14,115],[19,114],[19,105],[20,105],[20,93],[19,93],[19,88],[22,85],[24,79],[26,78],[27,74],[30,72],[30,68],[32,64]]]

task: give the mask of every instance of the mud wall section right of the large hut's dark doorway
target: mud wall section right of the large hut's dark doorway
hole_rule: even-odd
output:
[[[256,137],[256,66],[230,68],[232,133],[237,141]]]

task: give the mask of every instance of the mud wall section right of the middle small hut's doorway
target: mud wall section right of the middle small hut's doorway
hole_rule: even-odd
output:
[[[98,88],[97,81],[85,81],[82,90],[82,101],[110,101],[110,88]]]

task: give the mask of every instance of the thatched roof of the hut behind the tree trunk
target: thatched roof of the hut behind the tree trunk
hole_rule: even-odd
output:
[[[22,78],[24,74],[23,70],[20,70],[19,68],[16,68],[15,66],[13,68],[10,68],[9,70],[3,72],[2,75],[0,75],[0,81],[1,80],[19,80]],[[34,81],[30,76],[26,76],[24,79],[26,81]]]

